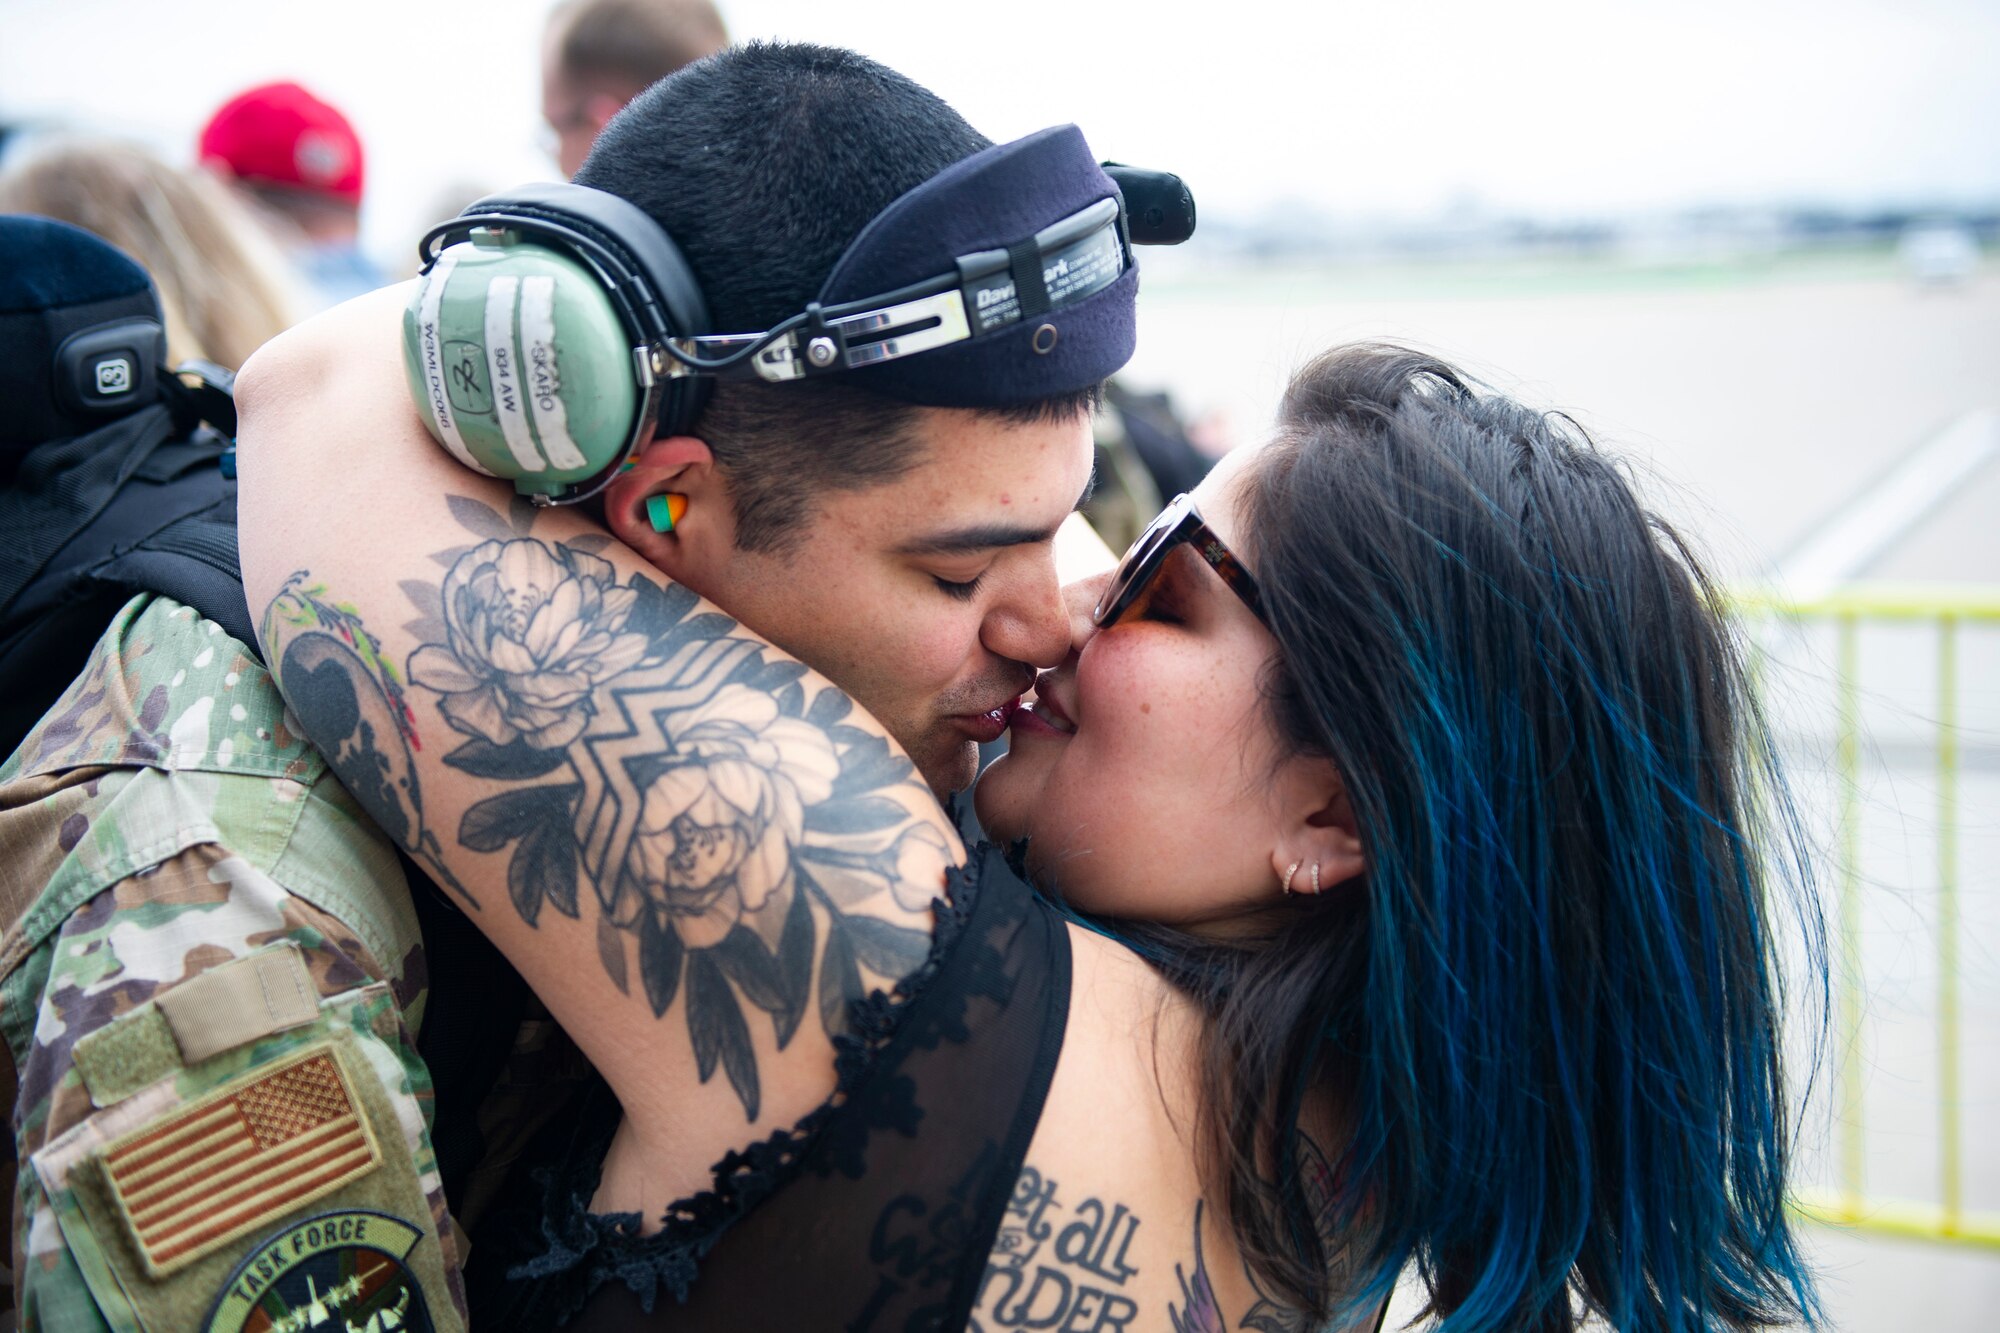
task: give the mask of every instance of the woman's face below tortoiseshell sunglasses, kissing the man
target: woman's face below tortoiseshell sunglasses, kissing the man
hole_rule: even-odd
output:
[[[1238,516],[1256,452],[1230,454],[1194,492],[1256,572]],[[1286,759],[1264,671],[1278,644],[1200,554],[1176,546],[1110,628],[1090,610],[1110,574],[1064,588],[1072,650],[1042,673],[1008,753],[974,793],[1000,841],[1028,837],[1036,883],[1112,917],[1200,927],[1280,893],[1294,823],[1324,803],[1328,767]],[[1324,787],[1324,783],[1322,783]],[[1294,889],[1308,889],[1300,871]]]

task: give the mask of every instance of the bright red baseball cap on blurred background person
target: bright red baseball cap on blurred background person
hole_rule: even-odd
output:
[[[360,134],[298,84],[262,84],[224,102],[202,128],[202,162],[238,180],[362,202]]]

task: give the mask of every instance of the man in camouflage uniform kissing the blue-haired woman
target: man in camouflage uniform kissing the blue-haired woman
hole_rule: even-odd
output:
[[[656,86],[618,118],[584,176],[668,226],[704,288],[714,328],[768,328],[820,294],[836,258],[874,218],[984,148],[988,142],[938,98],[882,66],[850,52],[770,46],[728,52]],[[1078,174],[1108,194],[1080,140],[1072,148]],[[964,212],[1000,216],[1020,194],[994,188]],[[1026,226],[1028,238],[1040,226]],[[1026,689],[1034,666],[1054,664],[1068,650],[1052,540],[1090,480],[1094,386],[1132,348],[1132,274],[1124,266],[1118,272],[1118,290],[1092,298],[1100,302],[1096,324],[1072,308],[1018,328],[1022,334],[1048,328],[1046,348],[1024,350],[1022,338],[1014,338],[1012,354],[996,356],[994,344],[1010,338],[1000,332],[962,344],[962,354],[946,348],[898,362],[890,378],[878,366],[838,376],[832,386],[724,386],[688,434],[644,446],[632,470],[604,492],[606,520],[674,582],[726,602],[744,622],[850,691],[910,751],[936,791],[964,787],[974,741],[998,735],[1000,707]],[[894,278],[864,284],[852,296],[898,284]],[[392,306],[396,298],[378,300]],[[1074,334],[1060,346],[1056,324]],[[270,356],[260,352],[252,366]],[[338,358],[316,362],[310,374],[338,384]],[[246,368],[246,402],[262,394],[268,404],[284,392],[268,372]],[[1004,392],[980,398],[974,390],[982,376]],[[252,394],[258,380],[264,384]],[[926,400],[926,384],[942,388],[948,380],[950,398]],[[320,388],[290,384],[294,402]],[[968,398],[990,406],[932,406]],[[328,466],[342,466],[338,442]],[[684,510],[656,526],[656,502],[668,494]],[[304,516],[312,498],[298,496],[296,504]],[[470,522],[486,524],[476,540],[496,548],[518,532],[506,516],[482,506]],[[572,592],[578,586],[570,580]],[[536,594],[486,588],[500,596],[516,590]],[[310,600],[312,590],[302,596]],[[22,1069],[24,1097],[30,1089],[66,1089],[62,1117],[24,1123],[22,1141],[26,1157],[50,1167],[48,1177],[22,1183],[30,1209],[16,1237],[28,1255],[24,1303],[50,1325],[58,1305],[64,1327],[210,1327],[222,1315],[250,1319],[254,1309],[280,1303],[306,1309],[310,1301],[324,1303],[322,1279],[344,1283],[342,1271],[358,1271],[340,1265],[366,1263],[390,1283],[374,1293],[404,1301],[398,1309],[428,1309],[440,1329],[458,1327],[464,1251],[450,1223],[464,1221],[466,1201],[476,1205],[490,1189],[494,1177],[486,1167],[504,1167],[508,1145],[558,1105],[540,1081],[550,1061],[536,1059],[534,1043],[508,1045],[516,1031],[534,1035],[534,1023],[520,1023],[518,1005],[506,999],[508,979],[480,973],[478,953],[462,939],[450,943],[452,929],[462,937],[468,927],[462,919],[456,927],[440,921],[448,913],[436,907],[438,895],[428,889],[412,895],[400,881],[398,845],[436,869],[430,853],[438,837],[468,837],[468,829],[426,827],[408,765],[376,763],[404,745],[410,725],[380,683],[398,691],[396,701],[410,691],[462,687],[454,697],[464,707],[446,715],[452,727],[480,733],[490,749],[500,749],[518,739],[508,733],[504,707],[562,713],[550,705],[550,691],[566,689],[560,673],[526,669],[498,683],[458,681],[438,654],[422,662],[378,660],[358,622],[336,624],[344,614],[338,606],[314,606],[328,630],[320,638],[346,634],[340,642],[348,656],[366,654],[384,673],[372,685],[366,673],[342,675],[340,662],[348,658],[308,666],[306,675],[330,685],[316,701],[346,705],[312,711],[318,751],[296,735],[298,717],[282,709],[250,644],[200,620],[192,608],[148,596],[134,600],[98,640],[92,664],[70,687],[70,703],[44,715],[8,771],[26,783],[8,793],[8,809],[54,835],[32,843],[34,871],[16,873],[8,887],[16,919],[36,927],[34,959],[60,957],[60,967],[20,965],[6,991],[16,1037],[38,1035]],[[444,610],[442,602],[436,608]],[[580,602],[572,606],[574,624],[564,628],[580,626],[576,614]],[[614,636],[626,632],[630,600],[598,598],[592,614],[618,620],[604,626],[604,644],[596,648],[610,652]],[[498,634],[488,646],[502,654],[530,650],[520,636],[532,624],[488,628]],[[516,638],[500,642],[506,632]],[[572,636],[570,646],[580,642]],[[140,669],[128,669],[134,662]],[[294,666],[286,664],[288,677]],[[134,695],[136,689],[142,693]],[[110,711],[110,719],[100,721],[92,711]],[[78,729],[78,719],[88,725]],[[342,725],[348,735],[332,731]],[[258,745],[236,737],[240,729]],[[206,791],[212,783],[202,765],[270,767],[270,777],[240,783],[260,803],[252,811],[258,819],[246,817],[242,829],[202,823],[190,819],[196,807],[188,801],[166,799]],[[314,787],[324,797],[322,809],[300,821],[294,787],[318,779],[326,767],[354,797],[332,781]],[[398,773],[400,783],[392,781]],[[118,813],[104,809],[128,791],[160,799],[132,801]],[[398,809],[398,801],[408,809]],[[374,825],[358,817],[356,803]],[[406,819],[412,811],[416,819]],[[478,837],[496,833],[508,831],[492,827]],[[100,857],[106,845],[122,855]],[[340,847],[352,847],[346,861],[328,855]],[[238,861],[250,867],[240,869]],[[26,863],[10,869],[20,865]],[[168,885],[174,895],[210,909],[214,921],[194,911],[162,911],[150,897],[162,871],[174,873]],[[322,921],[292,907],[294,899],[312,909],[366,913],[328,909],[322,915],[330,921]],[[410,941],[408,927],[418,915],[428,969]],[[398,931],[382,931],[380,941],[346,939],[358,933],[348,923],[372,917],[392,921]],[[314,951],[306,941],[304,957],[292,957],[298,951],[274,935],[280,925],[296,927],[300,937],[318,931],[326,947]],[[152,937],[168,927],[172,953],[148,951]],[[340,967],[334,959],[322,967],[320,955],[368,955],[376,965]],[[426,975],[430,993],[418,1005]],[[126,1005],[146,999],[132,991],[140,981],[194,987],[200,1003],[168,1013],[176,1007],[154,999],[152,1009],[124,1023]],[[272,989],[272,981],[286,985]],[[348,991],[366,995],[356,999]],[[90,1001],[88,1009],[78,1007],[78,997]],[[422,1059],[402,1039],[392,1013],[398,1007]],[[366,1061],[350,1059],[354,1041],[366,1037],[362,1027],[392,1033],[398,1059],[376,1061],[372,1049],[364,1051]],[[540,1023],[544,1049],[550,1027]],[[346,1029],[354,1029],[354,1041]],[[94,1039],[90,1053],[102,1053],[90,1071],[72,1059],[86,1037]],[[508,1065],[498,1091],[492,1069],[448,1077],[460,1047],[488,1037],[498,1039]],[[314,1065],[328,1041],[338,1047],[332,1063]],[[200,1083],[186,1071],[198,1071]],[[314,1133],[372,1127],[374,1147],[366,1163],[356,1157],[356,1175],[284,1177],[284,1189],[246,1193],[244,1181],[262,1181],[264,1169],[282,1175],[292,1161],[284,1157],[292,1151],[290,1137],[266,1135],[270,1143],[254,1137],[236,1145],[244,1157],[234,1175],[202,1179],[196,1151],[174,1147],[174,1173],[154,1179],[144,1157],[154,1143],[148,1135],[174,1145],[200,1143],[210,1131],[202,1117],[224,1115],[218,1099],[262,1105],[292,1095],[300,1079],[316,1081],[308,1091],[316,1105],[330,1107]],[[432,1087],[434,1107],[426,1101]],[[412,1107],[408,1113],[404,1103]],[[44,1137],[58,1129],[66,1155],[42,1157],[54,1147]],[[104,1169],[100,1161],[108,1157],[92,1139],[100,1131],[110,1153],[126,1153]],[[122,1185],[120,1177],[104,1175],[120,1163]],[[48,1185],[56,1203],[74,1203],[60,1223],[40,1193]],[[122,1211],[112,1199],[118,1187],[146,1191],[144,1205],[158,1217]],[[200,1211],[204,1189],[228,1203],[222,1219],[228,1227],[208,1225],[214,1219]],[[442,1207],[428,1215],[432,1197],[448,1199],[454,1219]],[[338,1215],[332,1227],[328,1211]],[[366,1221],[386,1215],[396,1225]],[[166,1221],[152,1227],[158,1219]],[[366,1227],[376,1231],[362,1237],[358,1229]],[[290,1249],[274,1251],[280,1243]],[[394,1253],[382,1249],[388,1243]],[[384,1267],[376,1257],[384,1253],[394,1263]],[[146,1313],[144,1321],[132,1315],[136,1309]]]

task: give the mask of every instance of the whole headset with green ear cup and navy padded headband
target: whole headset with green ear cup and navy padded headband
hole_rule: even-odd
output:
[[[1144,198],[1136,216],[1124,184]],[[432,434],[460,462],[516,476],[538,502],[574,502],[654,430],[692,430],[718,380],[840,374],[960,408],[1092,388],[1132,356],[1132,244],[1192,230],[1178,178],[1104,168],[1076,126],[1056,126],[890,202],[798,314],[716,334],[694,270],[644,210],[584,186],[528,186],[424,236],[406,364]],[[536,248],[542,258],[500,258]],[[592,300],[602,316],[584,316]],[[624,368],[606,378],[612,362]],[[510,374],[524,368],[546,372],[546,388],[516,402]]]

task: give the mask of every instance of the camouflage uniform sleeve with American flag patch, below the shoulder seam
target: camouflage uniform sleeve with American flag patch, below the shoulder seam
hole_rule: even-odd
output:
[[[36,1015],[20,1059],[16,1097],[20,1173],[14,1241],[24,1327],[208,1327],[198,1319],[224,1291],[248,1247],[260,1241],[258,1233],[282,1231],[306,1213],[368,1211],[416,1223],[436,1245],[430,1253],[414,1253],[412,1247],[400,1257],[402,1267],[412,1277],[424,1277],[416,1269],[430,1261],[438,1269],[432,1277],[442,1279],[456,1305],[460,1257],[426,1133],[430,1081],[382,965],[346,925],[286,893],[228,849],[206,843],[96,895],[62,923],[40,953],[44,967],[24,967],[6,985],[6,1007],[26,1011],[32,1005]],[[230,965],[274,955],[286,967],[264,969],[270,975],[254,979],[258,995],[276,977],[292,987],[294,1001],[304,991],[302,1003],[240,1027],[228,1027],[228,1015],[176,1005],[176,995],[192,989],[196,979],[216,979]],[[290,1027],[258,1033],[286,1021]],[[206,1039],[208,1047],[238,1037],[244,1041],[190,1063],[188,1053],[206,1051],[198,1045],[204,1031],[214,1033]],[[226,1203],[240,1209],[238,1217],[224,1215],[216,1235],[196,1231],[188,1237],[180,1233],[190,1221],[174,1217],[176,1197],[198,1197],[200,1189],[190,1187],[220,1179],[210,1163],[220,1161],[226,1149],[198,1149],[188,1163],[192,1175],[184,1173],[186,1183],[178,1191],[174,1183],[182,1177],[156,1185],[144,1175],[120,1181],[98,1171],[92,1181],[78,1179],[86,1145],[110,1143],[116,1153],[118,1143],[144,1139],[162,1121],[172,1129],[176,1113],[198,1107],[214,1091],[242,1085],[246,1077],[296,1055],[316,1053],[334,1055],[332,1083],[344,1079],[346,1087],[336,1087],[332,1099],[350,1103],[358,1113],[352,1119],[370,1139],[356,1165],[368,1157],[374,1163],[356,1179],[336,1183],[340,1173],[328,1175],[320,1185],[336,1187],[324,1191],[304,1181],[296,1201],[282,1195],[258,1201],[254,1193],[240,1201],[232,1197]],[[364,1087],[366,1081],[378,1085],[382,1095],[376,1101],[382,1105],[368,1105],[364,1093],[372,1089]],[[152,1103],[138,1115],[120,1117],[144,1091],[154,1093]],[[264,1101],[286,1093],[260,1091],[254,1077],[248,1091]],[[256,1097],[238,1095],[238,1101],[254,1105]],[[106,1117],[116,1119],[100,1127]],[[270,1175],[266,1159],[280,1169],[298,1165],[278,1157],[286,1143],[284,1129],[252,1127],[250,1141],[240,1147],[252,1181]],[[190,1133],[204,1135],[206,1127],[196,1125]],[[70,1151],[64,1153],[64,1147]],[[304,1161],[308,1169],[314,1165]],[[60,1175],[60,1167],[70,1167],[70,1173]],[[396,1167],[402,1169],[400,1181],[390,1179],[398,1175]],[[422,1217],[408,1217],[414,1197],[422,1197]],[[166,1215],[146,1213],[156,1201],[164,1201]],[[150,1235],[148,1225],[164,1231]],[[222,1231],[230,1235],[222,1239]],[[162,1281],[150,1285],[144,1281],[148,1241],[166,1255],[166,1263],[154,1267],[172,1265]],[[218,1243],[194,1255],[192,1263],[172,1263],[180,1257],[170,1253],[174,1245],[202,1249],[206,1241]],[[110,1285],[128,1291],[132,1309],[102,1311],[102,1321],[92,1319],[90,1313],[106,1305],[96,1299],[102,1281],[94,1277],[110,1277]],[[318,1289],[326,1287],[318,1283]],[[400,1295],[406,1293],[394,1293]],[[278,1291],[274,1299],[284,1297]],[[448,1317],[454,1311],[432,1313]],[[438,1323],[442,1327],[444,1321]]]

